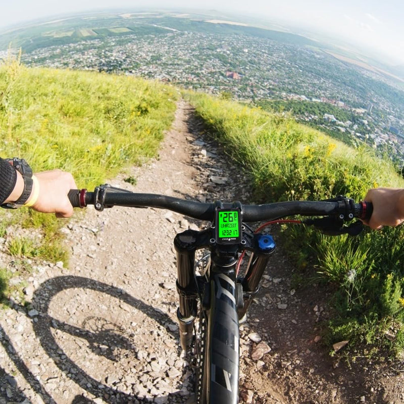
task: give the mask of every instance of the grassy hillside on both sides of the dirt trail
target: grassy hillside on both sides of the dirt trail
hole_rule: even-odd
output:
[[[180,93],[172,86],[125,76],[28,69],[17,62],[1,68],[0,86],[0,135],[5,139],[2,156],[23,156],[34,170],[67,169],[73,172],[80,187],[88,188],[118,173],[123,173],[120,180],[136,182],[131,167],[157,155]],[[242,170],[245,187],[251,184],[246,189],[252,194],[251,202],[316,199],[339,193],[359,200],[371,186],[404,186],[391,164],[365,146],[350,148],[288,117],[258,108],[203,93],[182,95],[195,108],[200,134],[218,142],[220,152]],[[175,146],[173,153],[174,150]],[[226,166],[225,161],[221,157],[216,164],[222,162]],[[168,186],[166,177],[159,178]],[[215,193],[217,187],[212,182],[205,192]],[[165,191],[165,187],[158,189]],[[187,189],[179,191],[188,195]],[[1,270],[0,286],[8,304],[17,301],[23,307],[24,282],[40,271],[38,268],[46,268],[45,262],[52,266],[57,261],[67,264],[60,240],[71,229],[67,227],[61,234],[61,222],[32,212],[19,213],[23,216],[16,219],[14,212],[1,212],[2,251],[18,264]],[[23,227],[36,226],[37,230],[8,231],[7,226],[17,220],[22,221]],[[104,227],[102,219],[97,223]],[[13,229],[18,227],[14,225]],[[85,232],[94,233],[94,228]],[[135,229],[134,225],[132,230],[138,233]],[[402,227],[365,232],[356,239],[330,239],[310,231],[303,237],[295,229],[283,232],[281,237],[294,237],[285,248],[295,267],[288,285],[304,290],[311,279],[325,288],[318,289],[318,293],[328,293],[330,300],[325,304],[331,302],[329,318],[321,323],[322,341],[327,349],[334,342],[349,340],[345,350],[336,354],[340,355],[338,358],[343,359],[345,352],[349,352],[347,360],[352,356],[373,360],[372,352],[378,352],[381,358],[401,354]],[[89,258],[94,259],[96,251],[103,251],[110,258],[112,251],[102,248],[94,241]],[[133,248],[136,250],[136,245]],[[70,263],[70,267],[74,265],[76,262]],[[349,275],[352,273],[353,278]],[[108,280],[104,282],[109,282],[109,275],[105,276]],[[125,284],[130,285],[127,275],[123,276]],[[10,277],[14,279],[11,284]],[[115,285],[115,280],[111,282]],[[315,300],[321,299],[315,296]]]

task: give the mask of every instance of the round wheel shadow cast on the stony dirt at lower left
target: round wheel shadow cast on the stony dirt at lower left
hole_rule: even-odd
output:
[[[33,328],[36,337],[40,341],[40,344],[48,357],[52,358],[56,366],[69,379],[78,384],[83,390],[90,393],[90,395],[101,397],[104,402],[184,402],[184,388],[182,385],[176,386],[169,393],[160,394],[160,397],[158,397],[156,401],[156,397],[154,397],[153,394],[147,394],[146,387],[142,387],[142,382],[138,381],[138,378],[141,378],[141,376],[144,375],[144,373],[142,374],[142,370],[134,370],[135,373],[132,375],[134,377],[131,379],[132,385],[129,387],[128,384],[123,386],[122,383],[120,383],[119,380],[114,379],[111,374],[104,374],[102,379],[99,377],[94,378],[92,374],[89,374],[93,371],[93,368],[91,368],[92,363],[86,363],[84,361],[83,365],[83,362],[76,359],[87,355],[86,352],[89,351],[89,356],[91,357],[98,356],[102,358],[104,362],[111,361],[116,364],[114,366],[119,367],[124,366],[125,363],[129,363],[133,367],[136,362],[134,362],[134,360],[130,361],[127,358],[131,357],[136,359],[138,349],[141,350],[142,347],[138,347],[136,346],[136,343],[134,343],[133,337],[135,336],[135,331],[133,331],[130,325],[126,327],[125,325],[117,324],[114,321],[111,321],[111,319],[104,318],[104,316],[88,313],[88,315],[85,316],[84,321],[79,325],[72,324],[70,321],[54,318],[50,314],[52,313],[53,299],[57,298],[56,296],[59,293],[68,291],[69,289],[78,289],[79,291],[80,289],[81,291],[82,289],[85,289],[87,292],[95,291],[107,294],[116,299],[117,302],[128,305],[128,307],[135,309],[136,312],[141,312],[142,315],[155,321],[157,327],[160,325],[160,329],[164,328],[168,334],[171,334],[173,342],[176,342],[176,353],[178,355],[180,354],[180,348],[178,347],[178,331],[172,331],[176,328],[176,324],[166,313],[125,293],[122,289],[111,286],[107,283],[79,276],[60,276],[46,280],[35,291],[32,304],[41,314],[37,317],[37,321],[33,322]],[[72,302],[67,301],[66,305],[72,305]],[[57,315],[58,314],[60,313],[57,313]],[[74,351],[66,351],[64,349],[64,346],[62,346],[63,344],[61,344],[61,339],[55,337],[58,333],[59,335],[63,335],[64,340],[66,340],[67,337],[77,341],[77,346],[75,346]],[[80,347],[83,347],[81,352]],[[72,357],[74,359],[72,359]],[[140,359],[143,359],[144,364],[144,358]],[[158,358],[151,355],[151,359],[156,360]],[[121,371],[123,374],[125,374],[126,371],[130,374],[131,369],[122,369]],[[185,373],[186,371],[186,368],[184,368],[182,372]],[[27,381],[31,379],[29,377],[28,369],[26,369],[25,372],[27,374],[24,374],[24,369],[22,369],[21,373]],[[169,380],[168,375],[166,376],[167,380]],[[38,391],[37,386],[35,390]],[[41,386],[40,390],[43,392],[43,386]],[[130,392],[130,390],[132,392]],[[139,393],[139,391],[141,392]],[[54,402],[51,398],[51,394],[47,394],[47,398],[48,400],[45,399],[45,402]],[[93,401],[88,400],[84,396],[78,395],[76,397],[70,397],[69,402],[79,403]]]

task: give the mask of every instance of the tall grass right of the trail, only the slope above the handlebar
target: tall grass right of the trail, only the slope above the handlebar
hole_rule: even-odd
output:
[[[252,174],[262,199],[318,199],[340,193],[359,199],[369,187],[403,184],[393,166],[367,146],[350,148],[288,116],[259,108],[206,94],[188,97],[225,151]]]

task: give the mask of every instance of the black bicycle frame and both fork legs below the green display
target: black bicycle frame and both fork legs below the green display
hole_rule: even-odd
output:
[[[209,358],[206,378],[211,391],[207,393],[215,397],[215,402],[232,403],[234,397],[238,397],[239,323],[245,319],[252,298],[259,290],[275,243],[269,235],[244,232],[240,244],[218,245],[214,233],[212,228],[186,230],[174,239],[179,294],[177,317],[181,347],[189,352],[199,298],[201,310],[209,311],[205,355]],[[208,281],[195,276],[195,251],[201,248],[211,251]],[[237,277],[238,255],[245,249],[251,251],[251,257],[244,277]],[[221,355],[214,354],[215,349],[226,360],[222,361]]]

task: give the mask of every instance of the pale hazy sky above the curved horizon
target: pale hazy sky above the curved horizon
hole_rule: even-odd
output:
[[[403,0],[0,0],[0,27],[52,16],[102,8],[187,7],[242,12],[275,21],[282,19],[312,31],[324,31],[359,43],[364,49],[404,64]]]

